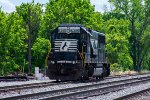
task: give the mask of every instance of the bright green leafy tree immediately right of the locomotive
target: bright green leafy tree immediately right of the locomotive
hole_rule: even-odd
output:
[[[106,33],[107,60],[115,69],[130,69],[133,62],[129,54],[129,22],[127,20],[110,19],[104,23]]]

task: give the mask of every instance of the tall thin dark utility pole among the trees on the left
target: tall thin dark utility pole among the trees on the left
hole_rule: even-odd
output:
[[[31,20],[30,20],[31,10],[30,5],[28,6],[28,74],[32,72],[32,65],[31,65]]]

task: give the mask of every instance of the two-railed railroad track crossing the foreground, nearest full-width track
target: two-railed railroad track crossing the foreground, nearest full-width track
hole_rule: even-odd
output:
[[[2,98],[3,100],[17,100],[17,99],[41,99],[41,100],[53,100],[53,99],[84,99],[87,97],[102,95],[113,91],[119,91],[125,89],[131,85],[137,85],[150,82],[149,77],[140,77],[133,79],[125,79],[119,81],[112,81],[107,83],[96,83],[79,87],[65,88],[59,90],[45,91],[34,94],[18,95],[14,97]]]

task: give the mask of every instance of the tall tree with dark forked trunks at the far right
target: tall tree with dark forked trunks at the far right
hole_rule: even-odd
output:
[[[150,23],[149,0],[109,0],[115,9],[125,14],[130,21],[130,55],[133,59],[134,70],[140,71],[144,54],[141,37]]]

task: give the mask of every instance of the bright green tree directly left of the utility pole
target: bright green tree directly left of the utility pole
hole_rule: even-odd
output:
[[[26,29],[23,28],[24,21],[17,13],[13,12],[7,17],[7,32],[11,36],[8,42],[9,61],[11,61],[11,67],[15,71],[19,71],[24,67],[24,59],[27,53],[27,39]]]

